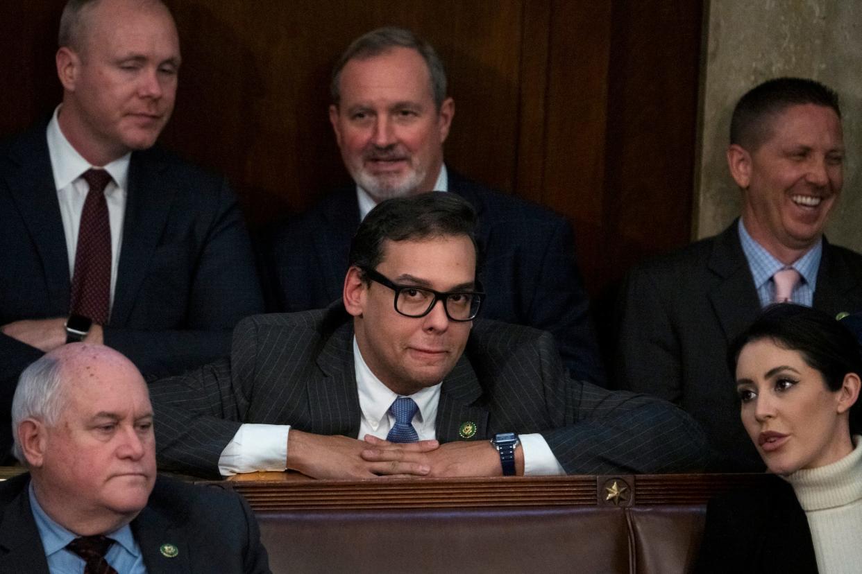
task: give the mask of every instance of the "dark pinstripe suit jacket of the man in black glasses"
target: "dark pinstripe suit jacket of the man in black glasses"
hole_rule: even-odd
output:
[[[359,435],[353,318],[343,306],[246,318],[230,360],[150,386],[159,465],[216,476],[240,423],[291,424],[320,435]],[[553,337],[477,320],[440,392],[436,432],[459,440],[541,433],[570,473],[684,472],[703,466],[703,431],[657,398],[571,380]]]

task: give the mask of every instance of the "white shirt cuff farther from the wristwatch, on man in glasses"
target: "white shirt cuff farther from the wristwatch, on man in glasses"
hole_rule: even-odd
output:
[[[239,472],[277,471],[287,468],[288,424],[243,424],[234,439],[222,450],[218,472],[231,476]]]

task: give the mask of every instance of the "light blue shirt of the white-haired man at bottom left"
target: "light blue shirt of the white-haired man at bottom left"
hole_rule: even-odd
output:
[[[36,528],[42,539],[42,547],[45,548],[45,558],[48,562],[48,571],[51,574],[84,574],[84,560],[72,551],[66,550],[66,545],[78,538],[77,534],[66,530],[50,516],[39,505],[33,491],[33,483],[29,485],[30,508],[33,509],[33,518]],[[141,548],[134,541],[132,528],[128,524],[119,530],[105,534],[114,540],[105,554],[108,564],[114,567],[119,574],[147,574],[144,565],[144,557]]]

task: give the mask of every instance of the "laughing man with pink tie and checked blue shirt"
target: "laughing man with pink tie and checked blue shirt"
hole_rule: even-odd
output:
[[[716,469],[763,468],[739,421],[728,342],[773,302],[833,316],[862,308],[862,256],[823,237],[844,153],[831,89],[793,77],[760,84],[731,120],[727,157],[742,192],[740,219],[628,275],[617,383],[694,415],[717,451]]]

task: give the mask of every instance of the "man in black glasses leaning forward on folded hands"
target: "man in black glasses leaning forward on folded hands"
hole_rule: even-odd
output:
[[[318,478],[702,466],[681,410],[571,380],[547,332],[473,320],[474,227],[455,194],[381,202],[338,305],[247,318],[229,361],[151,385],[160,464]]]

